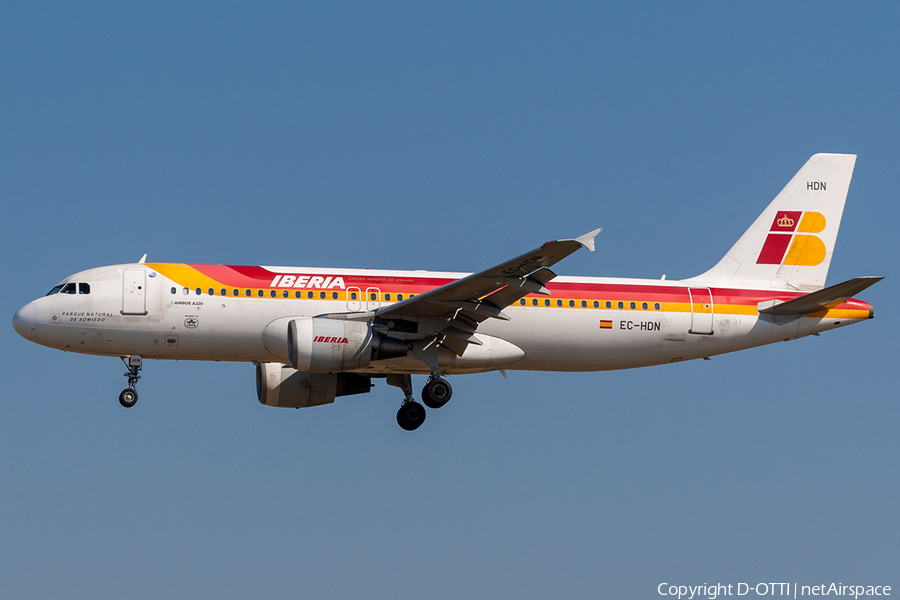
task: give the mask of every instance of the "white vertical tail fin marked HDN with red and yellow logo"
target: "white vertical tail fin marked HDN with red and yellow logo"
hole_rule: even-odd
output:
[[[825,287],[855,154],[816,154],[719,263],[687,281],[815,291]]]

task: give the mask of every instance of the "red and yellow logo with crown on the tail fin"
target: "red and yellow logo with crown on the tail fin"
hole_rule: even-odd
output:
[[[821,233],[824,229],[825,217],[821,213],[779,210],[775,213],[756,264],[804,267],[820,264],[825,260],[825,242],[809,234]]]

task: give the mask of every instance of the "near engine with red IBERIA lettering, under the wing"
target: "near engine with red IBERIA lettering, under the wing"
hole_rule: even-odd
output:
[[[373,360],[404,357],[409,346],[379,334],[369,323],[301,317],[287,323],[287,351],[298,371],[337,373],[363,369]]]

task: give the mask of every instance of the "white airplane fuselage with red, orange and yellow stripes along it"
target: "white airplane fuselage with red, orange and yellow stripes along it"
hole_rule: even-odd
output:
[[[28,339],[70,352],[288,363],[286,346],[282,347],[279,341],[282,328],[278,323],[285,318],[366,313],[396,302],[398,292],[391,290],[411,289],[402,287],[406,282],[414,280],[419,286],[416,289],[425,291],[466,275],[269,269],[278,273],[321,273],[323,278],[327,274],[332,281],[340,277],[341,285],[324,289],[268,283],[245,289],[218,281],[195,285],[175,275],[180,273],[175,266],[117,265],[67,278],[63,283],[89,284],[89,292],[57,292],[38,298],[20,310],[14,322],[17,331]],[[128,274],[140,275],[139,271],[146,275],[143,285],[128,289]],[[365,277],[367,283],[354,287],[353,277]],[[529,295],[507,307],[504,313],[508,321],[488,319],[478,327],[479,336],[508,342],[521,349],[524,356],[520,354],[508,362],[467,363],[464,357],[444,353],[441,372],[642,367],[802,337],[871,316],[868,304],[850,300],[828,311],[779,320],[761,316],[757,305],[773,299],[789,300],[798,294],[717,288],[709,292],[708,288],[680,281],[557,277],[548,288],[549,296]],[[408,296],[411,292],[406,293]],[[298,294],[300,298],[296,297]],[[373,361],[358,371],[428,373],[429,368],[409,356]]]

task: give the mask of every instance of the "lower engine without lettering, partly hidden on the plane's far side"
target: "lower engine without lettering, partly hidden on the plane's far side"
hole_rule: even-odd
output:
[[[266,406],[305,408],[331,404],[337,396],[366,394],[372,379],[355,373],[307,373],[281,363],[256,366],[256,396]]]

